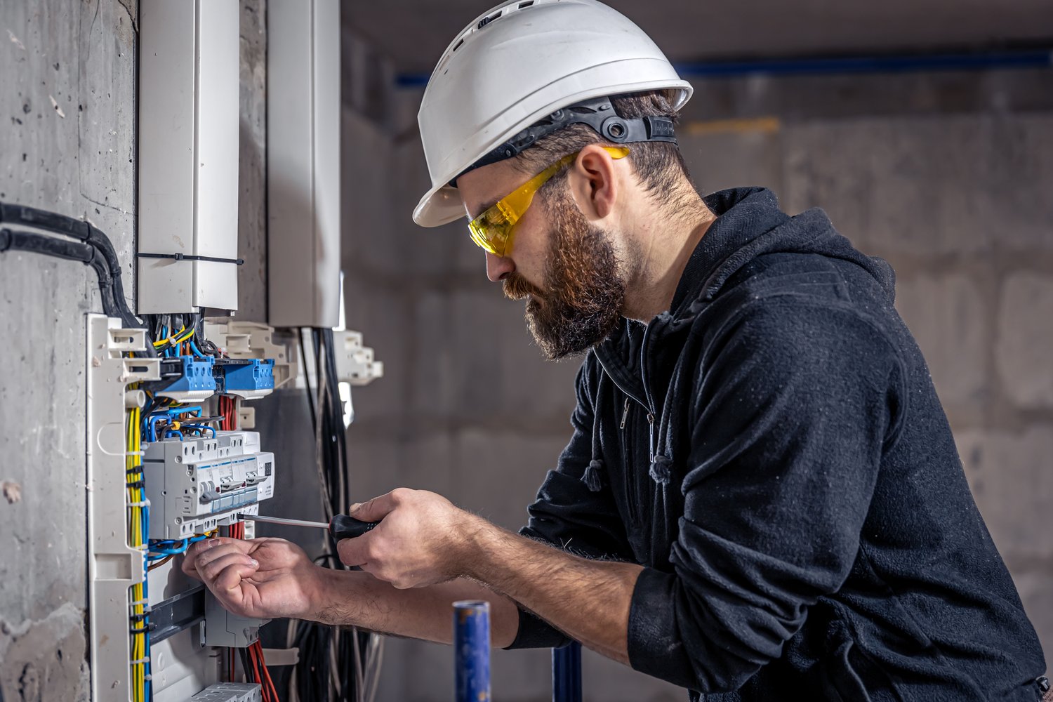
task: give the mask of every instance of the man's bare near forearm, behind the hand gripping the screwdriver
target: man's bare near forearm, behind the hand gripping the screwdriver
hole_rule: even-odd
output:
[[[629,609],[642,568],[593,561],[473,517],[476,555],[465,575],[508,595],[571,638],[629,663]]]

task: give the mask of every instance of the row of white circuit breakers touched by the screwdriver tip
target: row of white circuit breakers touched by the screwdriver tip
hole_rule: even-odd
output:
[[[237,513],[258,514],[274,495],[274,454],[256,432],[217,432],[205,439],[165,439],[145,445],[150,538],[186,539]]]

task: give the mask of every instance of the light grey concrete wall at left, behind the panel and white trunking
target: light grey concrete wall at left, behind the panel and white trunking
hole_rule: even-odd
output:
[[[241,4],[242,316],[265,317],[264,0]],[[136,0],[0,0],[0,201],[87,217],[134,294]],[[134,305],[133,305],[134,308]],[[88,695],[84,314],[95,274],[0,254],[0,700]]]

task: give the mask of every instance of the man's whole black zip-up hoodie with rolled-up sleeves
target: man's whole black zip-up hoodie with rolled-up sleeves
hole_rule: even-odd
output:
[[[577,380],[522,534],[644,566],[629,658],[706,700],[1026,700],[1045,661],[893,272],[760,188]],[[512,647],[567,639],[520,616]]]

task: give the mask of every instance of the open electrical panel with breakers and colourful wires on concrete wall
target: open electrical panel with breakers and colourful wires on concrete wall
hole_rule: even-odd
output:
[[[237,659],[216,651],[258,647],[266,620],[226,611],[172,559],[211,536],[252,538],[240,516],[259,514],[277,474],[242,403],[274,390],[276,360],[296,367],[296,346],[270,327],[230,339],[230,323],[210,325],[210,338],[200,315],[144,319],[133,329],[88,318],[93,696],[262,700],[256,683],[216,685],[238,675]]]

